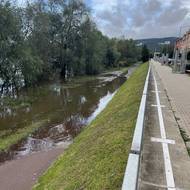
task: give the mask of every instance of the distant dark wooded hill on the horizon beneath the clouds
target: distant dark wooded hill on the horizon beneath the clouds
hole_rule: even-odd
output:
[[[149,38],[149,39],[139,39],[135,40],[137,45],[141,46],[146,44],[151,51],[160,51],[160,47],[163,44],[174,45],[177,37],[167,37],[167,38]]]

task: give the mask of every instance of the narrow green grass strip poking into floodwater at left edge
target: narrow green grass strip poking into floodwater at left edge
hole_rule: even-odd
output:
[[[25,128],[15,131],[6,130],[0,132],[0,151],[7,151],[12,145],[27,137],[30,133],[40,128],[45,123],[45,120],[32,123]]]

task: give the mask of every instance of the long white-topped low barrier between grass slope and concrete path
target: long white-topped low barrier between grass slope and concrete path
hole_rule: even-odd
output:
[[[145,118],[144,116],[145,116],[149,76],[150,76],[150,65],[141,98],[137,122],[133,135],[133,141],[131,145],[131,153],[129,154],[127,161],[127,167],[125,170],[122,190],[136,190],[138,186],[138,174],[139,174],[140,156],[142,149],[144,118]]]

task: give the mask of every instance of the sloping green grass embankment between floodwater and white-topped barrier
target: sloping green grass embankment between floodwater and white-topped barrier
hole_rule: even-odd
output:
[[[148,64],[140,66],[107,108],[40,177],[35,190],[121,189]]]

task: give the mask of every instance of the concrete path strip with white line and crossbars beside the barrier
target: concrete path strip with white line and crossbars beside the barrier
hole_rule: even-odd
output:
[[[162,78],[162,75],[167,75],[167,79],[164,76]],[[165,91],[165,80],[168,90],[169,84],[173,84],[172,76],[170,78],[168,75],[174,75],[170,68],[159,63],[152,64],[138,181],[140,190],[190,190],[190,157],[168,99],[168,92]],[[180,83],[176,79],[173,88],[177,82]],[[173,95],[177,88],[171,87],[170,94]]]

